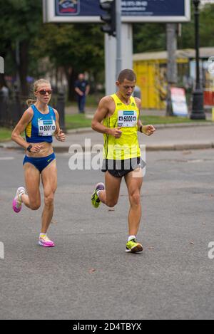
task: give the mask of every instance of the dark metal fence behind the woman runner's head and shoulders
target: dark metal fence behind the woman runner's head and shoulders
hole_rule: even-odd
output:
[[[58,93],[51,99],[51,106],[58,110],[61,128],[65,129],[65,94]],[[14,127],[27,109],[26,100],[21,99],[19,91],[6,97],[0,90],[0,127]]]

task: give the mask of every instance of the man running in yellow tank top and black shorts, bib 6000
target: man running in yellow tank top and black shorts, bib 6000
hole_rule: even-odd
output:
[[[128,241],[126,252],[143,251],[136,235],[141,221],[141,187],[143,161],[138,144],[138,131],[153,135],[153,125],[143,125],[139,119],[141,100],[133,98],[136,74],[123,70],[116,82],[118,92],[105,96],[98,104],[91,127],[104,135],[103,169],[105,185],[98,183],[91,197],[93,207],[101,202],[115,207],[118,202],[121,180],[124,177],[131,204],[128,214]],[[139,175],[139,172],[140,175]]]

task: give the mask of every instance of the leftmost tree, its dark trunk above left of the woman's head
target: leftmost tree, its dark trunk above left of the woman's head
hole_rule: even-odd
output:
[[[41,1],[0,0],[1,55],[11,57],[19,72],[22,95],[28,95],[29,50],[42,25]]]

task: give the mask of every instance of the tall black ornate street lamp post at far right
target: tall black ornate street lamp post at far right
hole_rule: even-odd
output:
[[[200,0],[193,0],[195,6],[195,53],[196,53],[196,83],[193,90],[193,107],[190,115],[191,120],[205,120],[203,109],[203,88],[200,83],[200,54],[199,54],[199,5]]]

